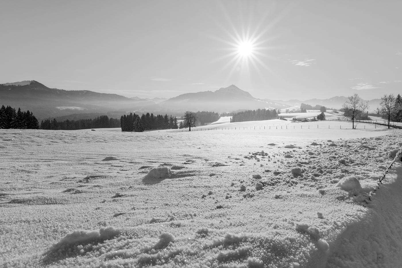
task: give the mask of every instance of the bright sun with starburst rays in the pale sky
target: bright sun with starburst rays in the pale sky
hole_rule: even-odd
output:
[[[250,14],[254,7],[250,8]],[[241,80],[251,80],[252,76],[258,74],[261,78],[266,79],[267,74],[277,76],[275,70],[269,65],[273,61],[280,61],[271,54],[271,51],[279,47],[273,46],[278,35],[271,33],[274,26],[280,21],[283,14],[271,14],[271,11],[262,14],[261,18],[248,18],[236,16],[233,20],[229,12],[222,7],[226,21],[215,21],[218,28],[222,30],[221,35],[209,35],[211,39],[224,44],[217,51],[224,51],[213,59],[211,64],[216,62],[224,62],[219,72],[225,73],[229,78]],[[245,14],[243,9],[239,10],[239,14]],[[234,16],[234,15],[233,15]]]

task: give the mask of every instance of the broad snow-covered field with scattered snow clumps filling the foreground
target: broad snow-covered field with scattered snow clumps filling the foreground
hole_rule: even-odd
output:
[[[400,130],[212,127],[0,130],[0,265],[400,266]]]

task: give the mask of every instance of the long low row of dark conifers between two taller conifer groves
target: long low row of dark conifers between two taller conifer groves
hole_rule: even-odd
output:
[[[109,118],[107,115],[100,115],[94,119],[78,119],[57,121],[46,119],[41,122],[41,129],[46,130],[78,130],[87,128],[118,128],[120,120],[118,118]]]

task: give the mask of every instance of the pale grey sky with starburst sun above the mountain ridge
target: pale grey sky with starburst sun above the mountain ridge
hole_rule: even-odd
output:
[[[170,98],[402,93],[402,1],[2,1],[0,83]]]

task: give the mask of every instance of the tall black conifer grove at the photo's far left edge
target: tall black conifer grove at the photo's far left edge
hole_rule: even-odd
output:
[[[18,129],[38,129],[38,120],[29,110],[18,111],[11,106],[5,107],[2,105],[0,108],[0,128],[18,128]]]

